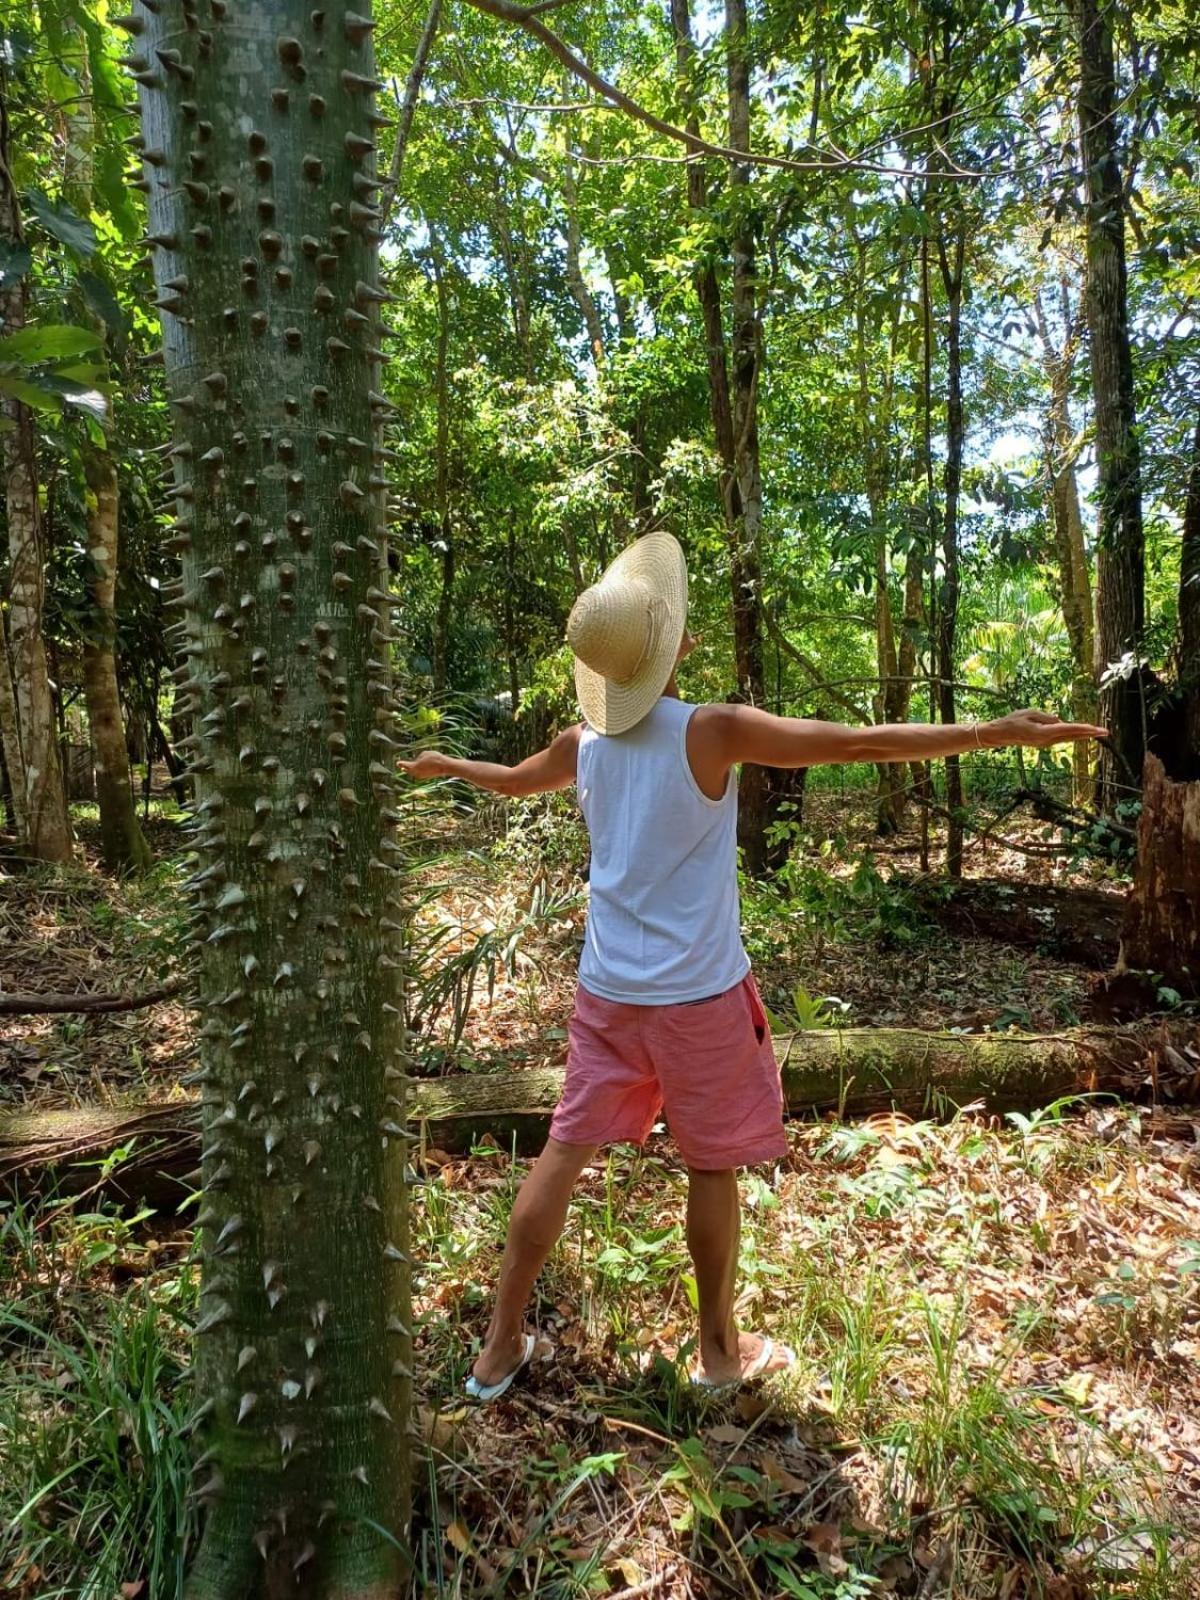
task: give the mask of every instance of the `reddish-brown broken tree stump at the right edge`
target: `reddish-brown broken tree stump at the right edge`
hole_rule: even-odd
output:
[[[1174,782],[1146,757],[1138,867],[1125,907],[1117,974],[1154,973],[1200,995],[1200,781]]]

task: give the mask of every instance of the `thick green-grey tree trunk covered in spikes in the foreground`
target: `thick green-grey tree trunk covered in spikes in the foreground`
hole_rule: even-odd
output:
[[[370,19],[141,0],[205,1099],[189,1600],[406,1568],[408,1240]]]

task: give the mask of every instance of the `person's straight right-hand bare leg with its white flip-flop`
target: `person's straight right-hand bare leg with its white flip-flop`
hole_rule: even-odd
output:
[[[763,1347],[760,1334],[738,1333],[733,1315],[739,1235],[738,1173],[688,1168],[688,1250],[699,1298],[699,1371],[717,1384],[741,1378]],[[789,1357],[790,1352],[781,1349],[765,1371],[787,1366]]]

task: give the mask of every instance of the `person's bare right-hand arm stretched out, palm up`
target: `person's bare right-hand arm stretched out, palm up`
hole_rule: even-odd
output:
[[[1104,739],[1090,722],[1059,722],[1045,710],[1014,710],[994,722],[949,725],[878,723],[843,728],[837,722],[773,717],[755,706],[706,706],[706,744],[733,766],[830,766],[840,762],[923,762],[968,750],[997,750],[1006,744],[1043,749],[1077,739]]]

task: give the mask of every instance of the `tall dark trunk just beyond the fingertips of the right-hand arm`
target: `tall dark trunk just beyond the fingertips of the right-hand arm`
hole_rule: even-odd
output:
[[[1146,750],[1139,666],[1146,626],[1146,539],[1112,32],[1099,0],[1072,3],[1080,51],[1078,123],[1088,197],[1085,304],[1099,470],[1096,677],[1104,685],[1101,720],[1109,728],[1109,738],[1101,742],[1096,803],[1101,811],[1114,811],[1139,784]],[[1120,662],[1125,667],[1114,670]]]

